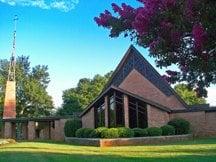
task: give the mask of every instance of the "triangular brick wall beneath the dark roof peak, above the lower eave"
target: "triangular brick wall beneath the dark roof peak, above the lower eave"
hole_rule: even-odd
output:
[[[136,70],[131,71],[119,87],[170,109],[184,109],[182,103],[175,96],[166,96]]]

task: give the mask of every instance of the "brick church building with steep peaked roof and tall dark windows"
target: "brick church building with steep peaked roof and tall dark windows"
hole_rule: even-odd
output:
[[[196,135],[216,135],[216,107],[187,105],[133,46],[81,114],[85,128],[160,127],[173,118],[188,120]]]

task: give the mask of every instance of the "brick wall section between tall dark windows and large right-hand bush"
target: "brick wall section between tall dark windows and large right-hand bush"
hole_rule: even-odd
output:
[[[169,114],[154,106],[147,106],[148,127],[161,127],[168,123]]]

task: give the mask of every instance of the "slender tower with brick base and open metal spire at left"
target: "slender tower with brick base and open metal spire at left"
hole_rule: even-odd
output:
[[[17,15],[14,17],[14,34],[13,34],[13,48],[10,58],[10,65],[8,69],[8,79],[5,90],[3,119],[16,118],[16,22]]]

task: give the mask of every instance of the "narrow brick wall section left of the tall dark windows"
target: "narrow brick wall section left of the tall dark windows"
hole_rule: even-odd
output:
[[[95,128],[94,109],[91,108],[85,115],[82,116],[83,128]]]

